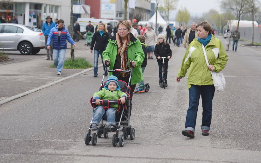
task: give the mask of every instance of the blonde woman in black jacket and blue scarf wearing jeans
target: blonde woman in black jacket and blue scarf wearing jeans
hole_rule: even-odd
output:
[[[92,36],[92,42],[91,42],[91,53],[93,52],[93,47],[94,47],[93,77],[98,77],[99,55],[103,59],[102,53],[105,50],[109,40],[109,34],[107,28],[105,27],[105,24],[99,23],[98,27],[99,28],[97,28],[96,32]],[[103,70],[105,70],[104,64],[103,64]],[[107,76],[107,72],[105,76]]]

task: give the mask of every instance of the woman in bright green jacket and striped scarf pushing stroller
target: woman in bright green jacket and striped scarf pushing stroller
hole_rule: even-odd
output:
[[[109,39],[106,50],[103,52],[103,62],[109,65],[109,70],[121,69],[131,70],[131,64],[134,67],[131,77],[131,93],[130,93],[130,116],[132,109],[132,96],[136,84],[143,80],[141,64],[144,60],[144,53],[140,40],[133,36],[130,32],[131,26],[126,20],[117,23],[118,32]],[[118,80],[129,82],[129,73],[125,72],[109,72]],[[127,116],[128,117],[128,116]]]

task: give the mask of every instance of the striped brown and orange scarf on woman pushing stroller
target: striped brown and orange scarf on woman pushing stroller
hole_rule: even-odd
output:
[[[129,63],[128,63],[128,57],[127,57],[127,53],[126,53],[128,50],[130,40],[131,40],[130,32],[128,33],[124,43],[122,43],[120,35],[118,33],[116,34],[116,42],[117,42],[117,46],[118,46],[117,55],[120,55],[120,57],[121,57],[121,70],[130,70]],[[122,74],[122,77],[129,76],[129,73],[126,73],[126,72],[124,72],[124,73],[121,72],[121,74]]]

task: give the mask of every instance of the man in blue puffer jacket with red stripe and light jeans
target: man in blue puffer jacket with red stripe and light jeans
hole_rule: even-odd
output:
[[[68,30],[64,27],[63,24],[64,21],[62,19],[58,20],[58,23],[55,25],[55,27],[50,30],[48,40],[46,43],[47,49],[50,49],[50,43],[52,41],[54,52],[53,59],[54,65],[57,68],[57,75],[61,75],[62,72],[67,48],[66,40],[68,40],[73,45],[73,47],[76,46]]]

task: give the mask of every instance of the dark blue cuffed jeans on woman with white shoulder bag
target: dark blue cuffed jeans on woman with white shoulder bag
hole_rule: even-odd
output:
[[[191,85],[189,92],[189,107],[187,110],[185,129],[195,132],[199,98],[202,99],[202,124],[201,130],[210,130],[212,115],[212,99],[215,93],[214,85]]]

